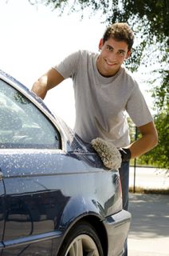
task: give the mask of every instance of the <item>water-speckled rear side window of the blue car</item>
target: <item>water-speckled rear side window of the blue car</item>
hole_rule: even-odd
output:
[[[23,94],[0,80],[0,148],[60,148],[56,127]]]

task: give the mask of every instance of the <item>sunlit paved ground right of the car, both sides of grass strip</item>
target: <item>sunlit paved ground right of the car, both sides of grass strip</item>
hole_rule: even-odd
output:
[[[158,176],[155,170],[136,170],[136,186],[168,189],[169,178],[163,175]],[[128,256],[169,256],[169,195],[130,193],[129,198]]]

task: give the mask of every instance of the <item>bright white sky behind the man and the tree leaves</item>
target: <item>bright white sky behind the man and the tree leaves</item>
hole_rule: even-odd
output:
[[[33,82],[66,55],[75,50],[98,50],[105,23],[100,15],[88,17],[84,12],[64,14],[46,6],[32,6],[28,0],[0,1],[0,69],[31,89]],[[151,97],[140,83],[148,106]],[[73,84],[70,79],[50,90],[45,104],[73,128],[75,121]]]

